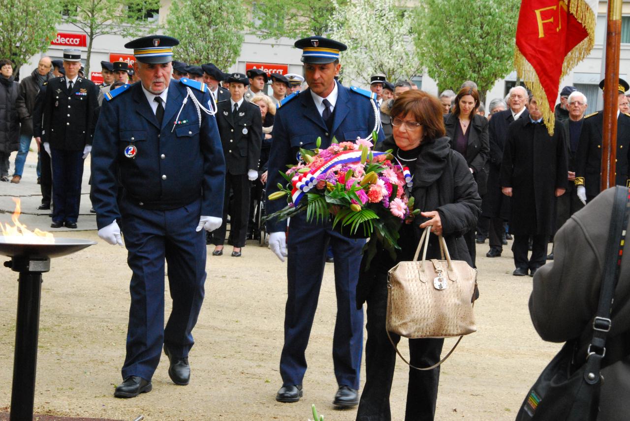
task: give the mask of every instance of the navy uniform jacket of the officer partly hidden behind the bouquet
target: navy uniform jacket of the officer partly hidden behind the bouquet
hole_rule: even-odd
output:
[[[358,138],[367,138],[372,135],[375,119],[380,118],[379,111],[377,115],[374,115],[372,99],[341,86],[339,82],[336,84],[338,96],[333,109],[332,130],[328,130],[324,119],[319,114],[311,96],[311,89],[299,93],[278,108],[273,123],[267,194],[278,191],[278,182],[283,185],[287,183],[278,171],[287,171],[288,164],[297,163],[297,153],[300,148],[315,149],[318,137],[321,137],[321,149],[326,149],[330,146],[333,135],[338,142],[355,142]],[[379,129],[379,142],[384,138],[382,129]],[[287,202],[284,199],[268,200],[267,214],[276,212],[286,205]],[[284,232],[286,227],[286,221],[267,222],[268,232]]]

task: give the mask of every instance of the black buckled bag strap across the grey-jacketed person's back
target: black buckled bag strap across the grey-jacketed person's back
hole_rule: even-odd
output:
[[[617,186],[610,216],[610,228],[606,254],[604,257],[604,274],[600,285],[599,304],[592,322],[593,337],[588,345],[586,369],[584,379],[590,385],[600,380],[602,359],[606,355],[606,337],[610,331],[610,314],[614,298],[624,243],[626,241],[626,227],[630,210],[630,189]]]

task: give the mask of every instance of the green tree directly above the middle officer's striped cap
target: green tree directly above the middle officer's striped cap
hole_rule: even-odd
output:
[[[348,0],[337,3],[347,4]],[[249,27],[264,40],[325,36],[334,12],[335,6],[330,0],[258,0],[253,4]]]

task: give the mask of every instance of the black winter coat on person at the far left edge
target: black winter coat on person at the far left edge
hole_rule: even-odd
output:
[[[13,76],[0,76],[0,152],[11,154],[20,147],[20,117],[15,102],[20,84]]]

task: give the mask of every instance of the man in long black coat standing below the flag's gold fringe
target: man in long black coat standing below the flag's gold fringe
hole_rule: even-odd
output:
[[[528,269],[534,276],[545,264],[547,242],[555,225],[555,198],[564,194],[567,184],[563,125],[556,120],[554,134],[549,135],[537,98],[532,95],[528,110],[527,118],[510,124],[501,162],[501,191],[512,198],[514,276],[525,276]],[[528,261],[530,235],[532,257]]]

